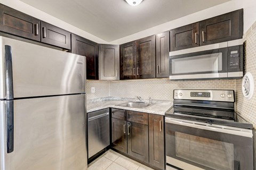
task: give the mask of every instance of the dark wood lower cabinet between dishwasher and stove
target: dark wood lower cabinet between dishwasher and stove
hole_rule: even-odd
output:
[[[145,165],[164,169],[164,116],[122,109],[112,109],[111,115],[111,147]]]

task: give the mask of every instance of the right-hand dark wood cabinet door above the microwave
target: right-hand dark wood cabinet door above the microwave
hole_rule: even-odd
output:
[[[209,45],[243,37],[243,9],[200,22],[200,45]]]

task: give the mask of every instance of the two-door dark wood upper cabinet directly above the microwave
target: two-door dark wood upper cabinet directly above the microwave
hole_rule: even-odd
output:
[[[170,51],[243,37],[243,9],[170,30]]]

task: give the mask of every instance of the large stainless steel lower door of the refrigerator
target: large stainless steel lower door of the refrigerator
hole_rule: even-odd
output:
[[[14,151],[1,141],[4,169],[87,169],[85,113],[85,95],[14,100]]]

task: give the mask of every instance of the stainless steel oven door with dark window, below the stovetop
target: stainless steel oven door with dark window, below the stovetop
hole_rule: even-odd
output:
[[[252,170],[252,130],[178,120],[166,122],[166,163],[188,170]]]

